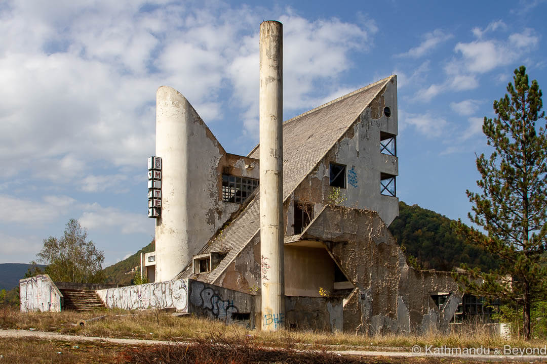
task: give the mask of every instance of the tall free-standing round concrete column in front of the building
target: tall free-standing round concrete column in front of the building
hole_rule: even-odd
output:
[[[262,329],[284,327],[283,25],[260,24],[260,254]]]

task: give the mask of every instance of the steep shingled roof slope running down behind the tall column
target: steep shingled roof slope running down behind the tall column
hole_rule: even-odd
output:
[[[392,77],[394,76],[360,88],[283,123],[284,198],[321,162]],[[259,153],[257,145],[249,153],[249,157],[258,159]],[[259,229],[260,202],[257,193],[232,223],[226,226],[222,234],[217,234],[202,249],[202,254],[228,252],[228,255],[213,271],[201,273],[200,281],[213,283],[248,241],[258,234]],[[179,278],[191,276],[193,272],[187,269]]]

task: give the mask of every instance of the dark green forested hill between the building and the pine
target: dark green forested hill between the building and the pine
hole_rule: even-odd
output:
[[[494,267],[492,255],[457,237],[451,222],[437,212],[400,201],[399,217],[389,225],[389,231],[424,269],[451,271],[462,263],[481,270]]]

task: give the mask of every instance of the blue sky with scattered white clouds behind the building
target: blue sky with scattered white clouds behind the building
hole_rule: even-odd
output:
[[[545,1],[0,2],[0,262],[69,218],[105,265],[150,242],[155,92],[186,96],[228,152],[258,142],[258,31],[284,28],[284,119],[398,75],[397,194],[466,215],[492,102],[525,64],[547,87]]]

